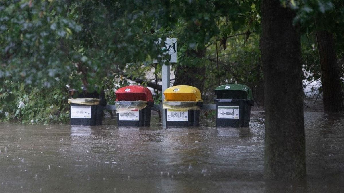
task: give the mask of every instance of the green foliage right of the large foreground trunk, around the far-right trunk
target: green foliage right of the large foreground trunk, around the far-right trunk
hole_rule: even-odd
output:
[[[315,33],[327,31],[334,35],[338,61],[344,57],[344,1],[342,0],[281,0],[284,6],[289,6],[296,12],[294,24],[299,25],[302,37],[302,61],[304,68],[304,80],[306,84],[320,80],[321,69],[319,51],[316,44]],[[341,77],[343,77],[344,65],[339,63]],[[304,87],[306,86],[304,85]],[[314,90],[313,91],[318,91]],[[321,86],[319,92],[321,93]]]

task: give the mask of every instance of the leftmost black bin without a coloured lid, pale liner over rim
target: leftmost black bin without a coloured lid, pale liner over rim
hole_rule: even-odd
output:
[[[103,124],[106,99],[104,90],[100,93],[87,92],[85,87],[79,90],[69,90],[71,99],[68,99],[69,118],[71,125],[101,125]]]

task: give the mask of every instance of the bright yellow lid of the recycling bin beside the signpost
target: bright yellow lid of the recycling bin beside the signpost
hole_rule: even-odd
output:
[[[164,101],[203,101],[201,92],[196,87],[180,85],[164,91]]]

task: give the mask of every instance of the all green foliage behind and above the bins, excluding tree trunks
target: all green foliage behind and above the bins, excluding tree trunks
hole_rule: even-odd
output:
[[[295,24],[302,27],[302,60],[308,73],[304,78],[319,79],[312,32],[331,30],[338,56],[343,57],[343,1],[281,2],[296,11]],[[263,82],[260,7],[260,0],[1,1],[0,118],[64,122],[68,105],[57,98],[67,96],[61,86],[65,84],[85,84],[89,91],[104,88],[113,104],[115,90],[129,85],[128,80],[139,79],[146,86],[161,79],[162,50],[155,41],[165,37],[178,38],[174,68],[205,67],[206,76],[199,77],[205,79],[205,101],[212,101],[218,84],[242,83],[255,93]],[[190,50],[206,54],[192,56]],[[152,64],[154,58],[160,59],[158,64]],[[152,72],[155,77],[147,79]],[[160,100],[156,92],[155,103]]]

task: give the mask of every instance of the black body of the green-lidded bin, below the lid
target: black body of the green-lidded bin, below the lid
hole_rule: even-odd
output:
[[[217,127],[248,127],[250,124],[251,105],[248,100],[245,99],[219,99],[215,100],[216,105],[216,126]],[[238,109],[236,109],[236,107]],[[236,115],[238,112],[238,116]],[[227,115],[223,117],[229,117],[231,114],[234,118],[218,118],[218,113]]]

